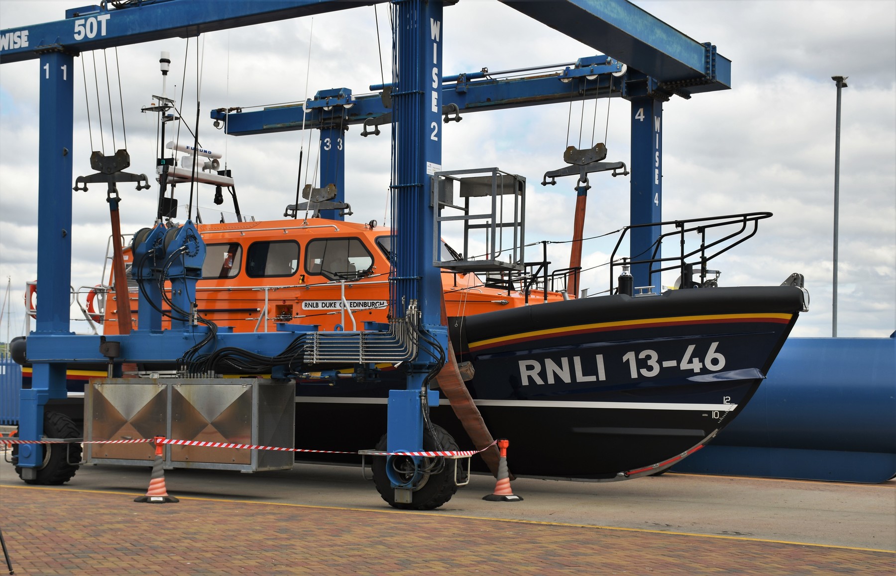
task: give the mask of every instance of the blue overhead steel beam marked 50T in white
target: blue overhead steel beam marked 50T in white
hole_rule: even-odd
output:
[[[41,47],[79,53],[164,38],[189,38],[312,14],[335,12],[384,0],[160,0],[118,10],[95,6],[66,11],[66,19],[0,30],[0,64],[38,58]]]

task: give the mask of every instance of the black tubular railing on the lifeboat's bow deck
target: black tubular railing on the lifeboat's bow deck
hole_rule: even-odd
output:
[[[681,288],[698,288],[709,287],[715,285],[715,278],[707,279],[707,275],[716,274],[718,272],[709,270],[706,265],[712,259],[728,250],[731,250],[738,244],[741,244],[752,238],[759,229],[759,221],[771,217],[771,212],[747,212],[744,214],[730,214],[726,216],[707,216],[703,218],[689,218],[686,220],[668,220],[666,222],[655,222],[648,224],[632,224],[625,226],[619,234],[619,240],[610,255],[610,292],[616,293],[616,268],[628,267],[633,265],[648,265],[648,277],[653,274],[666,272],[668,270],[679,270],[681,274]],[[654,241],[647,250],[640,254],[633,254],[627,258],[616,258],[619,246],[625,239],[625,235],[633,229],[645,228],[649,226],[659,226],[660,233],[657,240]],[[669,232],[662,232],[664,226],[673,226],[674,229]],[[733,231],[731,231],[733,229]],[[708,240],[708,233],[718,232],[722,235],[716,239]],[[693,250],[685,249],[686,234],[695,234],[700,242],[698,248]],[[660,248],[662,241],[668,237],[677,237],[679,239],[680,249],[676,256],[662,257]],[[645,253],[649,252],[647,258],[642,258]],[[700,274],[699,282],[694,281],[694,274]],[[631,295],[631,294],[629,294]]]

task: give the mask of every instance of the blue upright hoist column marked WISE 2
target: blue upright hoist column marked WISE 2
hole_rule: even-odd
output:
[[[417,301],[422,330],[444,349],[441,273],[432,266],[435,208],[429,202],[430,176],[442,169],[442,1],[407,0],[392,9],[392,313],[404,316]],[[434,363],[426,352],[411,360],[406,389],[390,392],[390,452],[422,445],[421,393]]]

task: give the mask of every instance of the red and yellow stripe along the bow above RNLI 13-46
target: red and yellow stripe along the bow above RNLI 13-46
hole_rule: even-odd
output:
[[[530,332],[521,332],[520,334],[478,340],[477,342],[470,343],[470,350],[482,350],[500,344],[527,342],[545,336],[572,336],[594,332],[609,332],[613,330],[630,330],[632,328],[655,328],[661,326],[686,326],[696,324],[728,324],[742,322],[788,324],[791,318],[793,318],[793,314],[772,312],[752,314],[706,314],[703,316],[673,316],[669,318],[642,318],[640,320],[596,322],[576,326],[547,328],[545,330],[532,330]]]

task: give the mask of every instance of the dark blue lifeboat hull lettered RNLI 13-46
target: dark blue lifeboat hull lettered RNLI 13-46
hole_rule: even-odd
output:
[[[538,304],[449,327],[489,431],[511,440],[515,474],[616,480],[665,470],[727,426],[802,304],[792,287],[719,288]],[[297,402],[297,445],[372,447],[384,432],[381,386],[299,386]],[[450,407],[432,415],[472,447]]]

